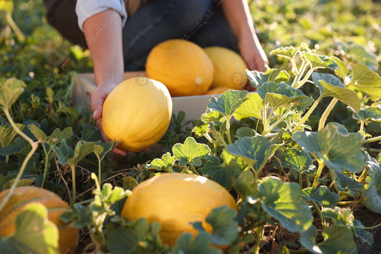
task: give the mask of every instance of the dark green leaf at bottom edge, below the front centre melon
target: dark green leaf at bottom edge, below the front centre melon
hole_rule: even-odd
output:
[[[170,254],[221,254],[202,234],[182,234]]]

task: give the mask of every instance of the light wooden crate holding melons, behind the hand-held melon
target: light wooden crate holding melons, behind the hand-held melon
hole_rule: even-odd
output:
[[[146,72],[125,72],[123,75],[124,80],[133,78],[133,77],[146,77]],[[87,109],[91,109],[91,94],[96,89],[95,76],[94,73],[80,73],[77,75],[77,78],[73,87],[73,103],[75,105],[80,105]],[[215,96],[219,96],[216,94]],[[185,112],[185,119],[183,124],[189,121],[190,119],[200,118],[205,110],[211,95],[197,95],[197,96],[182,96],[182,97],[172,97],[172,110],[173,113],[177,115],[179,111]],[[185,126],[186,127],[186,126]],[[192,125],[189,124],[189,128],[192,128]],[[155,152],[157,156],[163,154],[162,152],[163,145],[155,144],[150,147],[148,153]],[[128,157],[134,156],[135,153],[129,152]]]

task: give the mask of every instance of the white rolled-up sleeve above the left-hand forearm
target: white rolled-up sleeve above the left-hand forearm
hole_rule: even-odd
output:
[[[83,22],[94,14],[107,9],[116,10],[122,17],[122,24],[126,23],[127,13],[123,0],[77,0],[75,12],[78,16],[78,26],[83,32]]]

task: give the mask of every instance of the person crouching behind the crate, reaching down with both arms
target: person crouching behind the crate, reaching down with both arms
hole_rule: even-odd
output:
[[[144,69],[150,50],[165,40],[184,38],[201,47],[230,48],[241,54],[249,69],[266,70],[266,54],[247,0],[44,1],[49,23],[73,43],[90,49],[98,86],[91,95],[91,109],[98,126],[103,102],[123,81],[123,72]]]

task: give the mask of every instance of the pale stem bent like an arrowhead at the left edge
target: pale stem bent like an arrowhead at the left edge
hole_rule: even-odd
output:
[[[26,168],[26,165],[28,163],[28,161],[30,160],[30,158],[32,158],[32,155],[36,152],[37,150],[37,147],[38,147],[38,141],[34,142],[30,137],[28,137],[25,133],[23,133],[14,123],[13,119],[11,118],[11,115],[9,113],[9,109],[5,109],[3,108],[3,111],[6,115],[6,117],[8,118],[8,121],[11,123],[12,127],[16,130],[16,132],[21,136],[23,137],[26,141],[28,141],[30,143],[30,146],[32,147],[32,149],[30,150],[30,152],[27,154],[25,160],[22,162],[22,165],[21,165],[21,168],[20,168],[20,171],[19,173],[17,174],[16,178],[14,179],[14,182],[13,184],[11,185],[11,188],[9,190],[9,192],[6,194],[6,196],[4,197],[2,203],[0,204],[0,211],[3,209],[3,207],[5,206],[6,202],[8,202],[10,196],[12,195],[13,191],[14,191],[14,188],[16,188],[17,186],[17,182],[20,180],[22,174],[24,173],[24,170]]]

